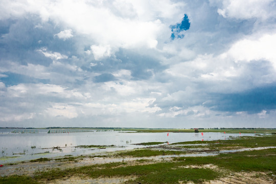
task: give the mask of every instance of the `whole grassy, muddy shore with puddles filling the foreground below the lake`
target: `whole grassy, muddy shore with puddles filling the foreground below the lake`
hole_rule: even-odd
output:
[[[169,132],[169,136],[171,134]],[[206,138],[205,134],[208,133],[203,133]],[[11,163],[0,168],[0,183],[276,182],[275,133],[261,135],[256,132],[256,135],[244,136],[238,133],[231,139],[222,137],[203,141],[201,133],[198,135],[198,140],[184,139],[169,144],[167,141],[141,140],[134,143],[133,146],[141,146],[135,149],[61,157],[41,156]],[[79,146],[82,149],[104,150],[96,144]]]

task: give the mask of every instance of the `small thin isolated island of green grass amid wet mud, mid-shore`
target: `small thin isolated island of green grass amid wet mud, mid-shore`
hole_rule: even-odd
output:
[[[163,151],[163,150],[150,150],[150,149],[136,149],[136,150],[117,153],[116,156],[144,157],[144,156],[175,155],[175,154],[176,155],[185,154],[185,152],[183,152],[183,151]]]

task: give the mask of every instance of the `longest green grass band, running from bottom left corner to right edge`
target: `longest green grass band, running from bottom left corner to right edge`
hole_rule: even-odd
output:
[[[148,165],[129,166],[125,162],[103,165],[90,165],[69,169],[53,169],[35,173],[34,178],[27,176],[0,177],[1,183],[36,183],[36,181],[51,181],[70,176],[124,177],[136,176],[126,183],[178,183],[178,181],[201,183],[204,180],[213,180],[225,176],[225,169],[235,172],[269,172],[276,174],[276,149],[244,151],[217,156],[206,157],[179,157],[174,162],[162,162]],[[202,165],[213,164],[221,171],[200,168]],[[194,165],[197,168],[183,168]],[[16,180],[16,182],[14,182]]]

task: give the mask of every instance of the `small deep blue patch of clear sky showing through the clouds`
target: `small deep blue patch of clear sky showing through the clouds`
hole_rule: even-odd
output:
[[[188,18],[188,15],[185,14],[181,23],[177,23],[175,25],[170,26],[170,28],[172,29],[171,39],[174,40],[175,38],[183,38],[184,34],[182,32],[190,29],[190,25],[191,23]]]

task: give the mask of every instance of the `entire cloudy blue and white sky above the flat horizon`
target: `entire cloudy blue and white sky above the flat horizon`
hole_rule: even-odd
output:
[[[276,128],[275,0],[0,9],[0,127]]]

